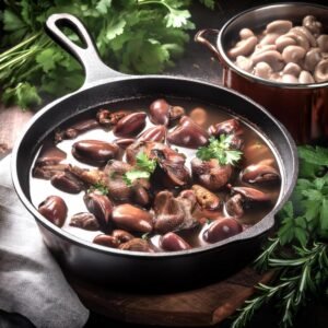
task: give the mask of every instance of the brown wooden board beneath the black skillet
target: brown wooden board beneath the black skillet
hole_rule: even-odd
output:
[[[139,325],[197,327],[227,318],[254,293],[257,282],[267,282],[271,276],[245,268],[218,283],[168,294],[129,294],[71,277],[68,280],[90,309],[109,318]]]

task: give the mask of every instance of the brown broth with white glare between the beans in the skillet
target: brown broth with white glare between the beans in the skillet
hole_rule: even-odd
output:
[[[208,128],[212,124],[216,124],[226,119],[231,119],[234,116],[232,114],[229,114],[227,110],[224,108],[218,108],[218,106],[211,106],[208,104],[199,103],[195,99],[188,101],[188,99],[180,99],[180,98],[166,98],[168,103],[173,105],[178,105],[183,106],[186,109],[186,114],[188,115],[192,108],[196,107],[202,107],[207,110],[207,119],[203,124],[204,128]],[[127,110],[144,110],[148,112],[148,107],[151,104],[152,99],[139,99],[139,101],[128,101],[124,102],[122,104],[115,104],[115,105],[109,105],[109,106],[104,106],[110,112],[117,112],[120,109],[127,109]],[[73,124],[78,121],[82,121],[83,119],[90,118],[90,117],[95,117],[96,109],[92,110],[87,116],[83,115],[83,118],[81,118],[81,115],[78,116],[75,119],[70,119],[65,127],[70,127]],[[147,119],[147,128],[153,126],[149,118]],[[255,150],[253,150],[251,156],[249,157],[244,157],[243,162],[241,163],[242,166],[246,166],[249,164],[255,164],[258,161],[265,160],[265,159],[271,159],[273,162],[273,166],[280,172],[278,161],[274,156],[274,153],[269,145],[269,143],[266,141],[265,137],[260,134],[259,131],[257,131],[254,127],[251,127],[249,124],[241,120],[241,126],[244,129],[243,133],[243,139],[244,139],[244,149],[247,147],[255,144]],[[60,127],[63,129],[65,127]],[[174,128],[174,127],[173,127]],[[72,154],[71,154],[71,147],[74,142],[83,139],[97,139],[97,140],[103,140],[107,142],[112,142],[114,139],[117,139],[117,137],[114,136],[112,130],[106,131],[102,128],[94,129],[86,131],[80,136],[78,136],[75,139],[72,140],[63,140],[57,144],[57,147],[65,151],[67,153],[67,159],[62,161],[62,163],[70,163],[73,165],[78,165],[83,168],[95,168],[95,166],[91,166],[84,163],[81,163],[77,161]],[[54,140],[54,133],[50,133],[49,140]],[[47,141],[49,141],[47,140]],[[46,144],[46,142],[44,142]],[[195,157],[196,150],[194,149],[187,149],[187,148],[181,148],[181,147],[176,147],[172,145],[173,149],[178,149],[180,153],[184,153],[187,155],[187,161],[186,161],[186,166],[190,171],[190,160]],[[42,148],[40,148],[42,149]],[[37,155],[35,156],[35,161],[37,159]],[[34,167],[34,165],[33,165]],[[247,184],[242,183],[238,179],[238,175],[235,174],[233,178],[230,181],[233,186],[250,186]],[[253,186],[250,186],[253,187]],[[280,184],[272,184],[272,185],[256,185],[255,186],[257,189],[260,189],[265,192],[270,192],[272,195],[272,201],[269,206],[262,206],[262,207],[256,207],[255,209],[247,210],[242,219],[239,219],[239,222],[243,224],[244,229],[247,229],[249,225],[254,225],[257,222],[259,222],[266,214],[268,214],[274,204],[277,203],[277,200],[280,195]],[[103,232],[101,231],[86,231],[80,227],[74,227],[70,226],[70,218],[78,213],[78,212],[87,212],[87,209],[84,204],[83,201],[83,195],[84,191],[81,191],[78,195],[71,195],[68,192],[63,192],[57,188],[55,188],[49,180],[40,179],[40,178],[35,178],[32,176],[32,169],[31,169],[31,176],[30,176],[30,191],[31,191],[31,200],[32,203],[37,208],[38,204],[45,200],[46,197],[48,196],[59,196],[61,197],[67,206],[68,206],[68,215],[66,219],[66,222],[63,226],[61,227],[62,230],[69,232],[70,234],[78,236],[84,241],[92,242],[94,237]],[[225,199],[227,197],[227,191],[223,190],[220,192],[216,192],[221,197],[221,199]],[[212,220],[213,221],[213,220]],[[197,227],[190,229],[190,230],[185,230],[185,231],[179,231],[177,232],[178,235],[180,235],[186,242],[188,242],[191,247],[200,247],[202,245],[207,245],[208,243],[202,239],[202,233],[206,231],[210,224],[211,220],[209,220],[208,223],[204,223],[203,225],[199,225]],[[136,236],[140,237],[141,234],[134,234]],[[152,244],[157,248],[159,247],[159,238],[160,235],[153,235],[151,236],[151,242]]]

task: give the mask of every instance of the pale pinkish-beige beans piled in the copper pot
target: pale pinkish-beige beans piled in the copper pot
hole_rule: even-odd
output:
[[[259,35],[243,28],[239,37],[227,55],[244,71],[282,83],[328,81],[328,35],[313,15],[305,16],[301,26],[273,21]]]

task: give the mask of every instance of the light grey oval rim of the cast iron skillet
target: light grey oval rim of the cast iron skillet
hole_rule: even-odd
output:
[[[255,225],[248,227],[247,230],[243,231],[242,233],[234,235],[230,238],[226,238],[224,241],[204,245],[201,247],[196,247],[191,248],[188,250],[178,250],[178,251],[163,251],[163,253],[142,253],[142,251],[131,251],[131,250],[121,250],[121,249],[116,249],[116,248],[109,248],[105,246],[101,246],[97,244],[93,244],[91,242],[84,241],[80,237],[74,236],[73,234],[66,232],[61,227],[56,226],[51,222],[49,222],[47,219],[45,219],[43,215],[38,213],[36,208],[32,204],[31,200],[27,198],[25,192],[23,191],[21,187],[21,183],[17,176],[17,155],[21,150],[21,143],[25,138],[25,134],[28,132],[30,129],[33,129],[34,125],[38,121],[38,119],[48,110],[51,110],[51,108],[56,105],[59,105],[60,103],[69,99],[72,96],[79,96],[79,94],[82,94],[85,91],[92,91],[92,89],[97,87],[97,86],[104,86],[106,84],[110,85],[116,82],[124,82],[124,81],[138,81],[138,80],[172,80],[175,82],[186,82],[186,83],[192,83],[192,84],[201,84],[206,87],[214,87],[222,90],[224,92],[227,92],[232,94],[233,96],[241,97],[244,101],[250,103],[254,107],[257,107],[257,110],[262,112],[271,121],[273,121],[281,131],[281,134],[284,137],[286,143],[289,144],[289,149],[291,150],[291,161],[292,161],[292,166],[294,167],[294,172],[292,173],[292,177],[290,179],[290,184],[286,186],[281,185],[281,190],[280,190],[280,196],[279,199],[273,207],[273,209],[265,215],[258,223]],[[277,151],[274,148],[274,143],[269,139],[269,143],[276,150],[276,155],[279,155],[281,157],[281,154]],[[65,95],[60,98],[55,99],[54,102],[47,104],[44,106],[42,109],[39,109],[31,119],[31,121],[27,124],[27,126],[24,128],[23,132],[21,136],[17,138],[12,155],[11,155],[11,176],[13,180],[13,186],[14,189],[21,200],[21,202],[24,204],[24,207],[28,210],[28,212],[34,216],[36,222],[38,224],[42,224],[44,227],[46,227],[48,231],[54,233],[55,235],[59,236],[60,238],[63,238],[66,242],[73,243],[75,246],[80,246],[83,248],[87,248],[89,250],[95,250],[97,253],[102,253],[105,255],[112,255],[112,256],[124,256],[124,257],[132,257],[132,258],[142,258],[142,259],[166,259],[166,258],[181,258],[186,256],[194,256],[195,254],[201,255],[202,253],[210,253],[210,251],[215,251],[218,249],[224,249],[229,247],[232,244],[237,244],[246,241],[250,241],[257,237],[260,237],[263,235],[266,232],[270,231],[272,226],[276,224],[274,220],[274,214],[282,208],[282,206],[288,201],[289,197],[291,196],[293,188],[296,184],[297,179],[297,173],[298,173],[298,159],[297,159],[297,150],[294,140],[292,139],[291,134],[289,131],[285,129],[285,127],[278,120],[276,119],[266,108],[263,108],[261,105],[257,104],[254,102],[251,98],[248,96],[245,96],[234,90],[227,89],[222,85],[216,85],[214,83],[206,82],[202,80],[197,80],[197,79],[191,79],[191,78],[185,78],[185,77],[175,77],[175,75],[121,75],[117,78],[108,78],[108,79],[103,79],[98,81],[94,81],[89,83],[85,86],[82,86],[78,91],[70,93],[68,95]],[[279,161],[282,162],[281,159],[278,159]],[[282,163],[280,163],[282,165]],[[285,174],[285,173],[284,173]],[[285,183],[288,180],[285,179]],[[283,190],[285,189],[285,190]],[[284,194],[282,192],[284,191]],[[43,233],[40,233],[43,235]]]

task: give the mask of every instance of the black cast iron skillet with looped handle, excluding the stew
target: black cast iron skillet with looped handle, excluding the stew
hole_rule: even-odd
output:
[[[84,48],[73,44],[60,30],[69,25]],[[245,266],[259,251],[263,237],[274,225],[274,214],[288,200],[297,175],[296,148],[289,132],[266,109],[224,87],[192,79],[163,75],[131,77],[116,72],[99,59],[82,23],[69,14],[52,14],[49,35],[70,51],[85,69],[85,83],[39,110],[12,154],[12,178],[16,192],[35,216],[44,241],[63,269],[102,284],[130,290],[166,290],[203,284]],[[118,99],[160,96],[195,98],[232,108],[234,114],[258,126],[277,156],[282,175],[281,194],[274,209],[245,232],[207,247],[185,251],[144,254],[106,248],[82,241],[43,218],[30,201],[28,175],[43,140],[69,118]]]

